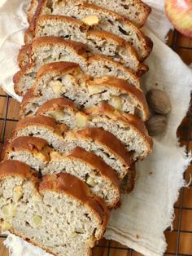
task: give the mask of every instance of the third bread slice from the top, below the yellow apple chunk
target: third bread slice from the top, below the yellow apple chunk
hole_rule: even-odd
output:
[[[37,20],[34,36],[36,38],[55,36],[83,42],[89,46],[92,53],[111,56],[126,67],[132,68],[136,73],[139,73],[142,68],[146,68],[146,66],[139,63],[133,47],[125,40],[112,33],[89,29],[83,22],[72,17],[42,15]],[[25,40],[25,42],[31,43],[28,40]]]

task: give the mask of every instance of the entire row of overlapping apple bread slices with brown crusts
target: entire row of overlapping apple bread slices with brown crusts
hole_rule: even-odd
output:
[[[88,256],[152,151],[140,0],[32,0],[18,56],[20,118],[0,164],[0,229]]]

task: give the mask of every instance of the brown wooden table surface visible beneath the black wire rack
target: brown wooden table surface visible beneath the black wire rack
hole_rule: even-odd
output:
[[[185,38],[178,34],[177,38],[170,33],[168,44],[171,45],[175,40],[177,47],[175,51],[181,55],[182,60],[186,64],[192,63],[192,40]],[[181,77],[182,79],[182,77]],[[192,82],[191,82],[192,85]],[[5,92],[0,90],[0,95],[6,95]],[[7,102],[8,100],[8,102]],[[8,105],[8,111],[6,113],[6,106]],[[0,96],[0,117],[4,118],[7,114],[6,133],[5,136],[9,138],[11,136],[11,130],[15,127],[15,121],[12,119],[18,119],[19,104],[14,99],[7,99]],[[186,137],[190,136],[190,142],[188,148],[192,150],[192,130],[189,130],[190,115],[184,118],[181,127],[178,129],[178,136],[181,137],[181,145],[186,145]],[[0,120],[0,130],[3,130],[5,122]],[[3,136],[3,135],[1,135]],[[2,137],[1,137],[2,138]],[[192,167],[190,166],[186,170],[185,179],[187,182],[190,180],[190,174],[192,173]],[[192,189],[183,188],[181,195],[177,203],[175,204],[175,221],[173,223],[173,231],[169,230],[165,232],[168,241],[168,249],[166,255],[192,255]],[[182,208],[182,209],[181,209]],[[180,232],[179,232],[180,231]],[[7,249],[2,245],[4,239],[0,238],[0,256],[7,256]],[[94,256],[128,256],[139,255],[125,246],[120,245],[114,241],[103,240],[100,242],[99,247],[94,248]]]

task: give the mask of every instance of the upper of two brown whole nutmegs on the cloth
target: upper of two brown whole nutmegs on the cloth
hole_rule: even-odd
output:
[[[171,110],[171,102],[164,90],[152,89],[146,94],[146,100],[151,110],[159,114],[167,114]]]

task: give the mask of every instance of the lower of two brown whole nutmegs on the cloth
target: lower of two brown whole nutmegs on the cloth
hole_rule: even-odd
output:
[[[163,115],[154,115],[146,121],[146,128],[149,135],[155,136],[164,133],[168,125],[167,117]]]

